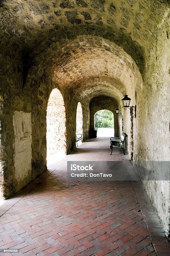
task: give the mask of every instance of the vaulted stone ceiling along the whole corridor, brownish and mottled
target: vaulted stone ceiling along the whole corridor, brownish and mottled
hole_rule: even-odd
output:
[[[83,88],[94,87],[90,79],[106,78],[113,83],[105,80],[103,88],[120,98],[138,68],[143,74],[168,7],[169,1],[159,0],[2,0],[2,59],[9,56],[22,83],[45,74],[83,95]]]

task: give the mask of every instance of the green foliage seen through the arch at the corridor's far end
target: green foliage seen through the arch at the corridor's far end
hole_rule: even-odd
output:
[[[114,115],[109,110],[100,110],[95,114],[95,127],[114,128]]]

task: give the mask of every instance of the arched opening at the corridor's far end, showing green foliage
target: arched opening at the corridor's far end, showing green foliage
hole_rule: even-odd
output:
[[[94,115],[94,127],[98,128],[97,136],[111,137],[114,134],[114,114],[107,109],[99,110]]]

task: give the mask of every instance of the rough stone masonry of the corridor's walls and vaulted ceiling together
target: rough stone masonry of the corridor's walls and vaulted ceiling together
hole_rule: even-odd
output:
[[[128,135],[128,154],[141,179],[139,161],[169,161],[169,14],[168,0],[1,1],[2,198],[47,169],[47,108],[53,89],[64,102],[65,152],[76,146],[77,104],[86,140],[90,102],[105,97],[122,110],[116,132]],[[125,94],[137,105],[136,119],[122,109]],[[168,235],[169,181],[143,184]]]

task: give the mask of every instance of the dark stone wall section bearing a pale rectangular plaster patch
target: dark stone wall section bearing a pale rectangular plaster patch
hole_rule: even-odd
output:
[[[3,199],[27,185],[31,176],[31,104],[23,89],[22,57],[16,51],[15,47],[2,46],[0,52],[0,196]],[[25,161],[28,166],[23,165]]]

